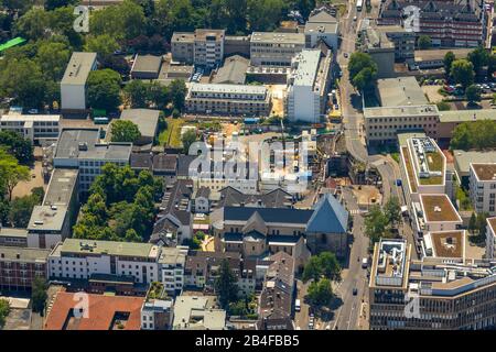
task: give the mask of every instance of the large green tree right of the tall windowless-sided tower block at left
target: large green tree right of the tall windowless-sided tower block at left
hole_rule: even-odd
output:
[[[88,103],[95,109],[115,111],[120,105],[121,78],[115,70],[94,70],[88,76]]]

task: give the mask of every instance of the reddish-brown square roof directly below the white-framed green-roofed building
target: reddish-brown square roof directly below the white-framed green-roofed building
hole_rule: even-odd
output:
[[[425,222],[462,222],[446,195],[420,195]]]

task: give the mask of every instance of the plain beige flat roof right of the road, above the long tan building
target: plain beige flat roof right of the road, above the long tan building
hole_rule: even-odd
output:
[[[377,80],[382,107],[402,107],[427,105],[422,88],[414,77],[398,77]]]

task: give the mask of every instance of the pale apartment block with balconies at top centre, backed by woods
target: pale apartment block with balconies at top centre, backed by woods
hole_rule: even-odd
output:
[[[172,58],[186,64],[214,67],[224,59],[224,41],[225,30],[174,32],[171,38]]]

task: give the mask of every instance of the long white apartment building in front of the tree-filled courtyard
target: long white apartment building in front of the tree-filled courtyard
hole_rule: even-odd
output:
[[[95,274],[132,277],[137,284],[161,280],[161,249],[151,243],[66,239],[50,253],[53,279],[89,279]]]

